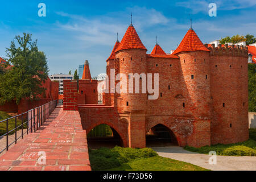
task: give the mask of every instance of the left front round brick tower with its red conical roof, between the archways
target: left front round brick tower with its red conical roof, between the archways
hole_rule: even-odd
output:
[[[139,39],[133,26],[127,28],[125,35],[118,48],[115,50],[115,57],[119,59],[119,71],[125,75],[121,78],[127,80],[127,85],[121,85],[125,92],[121,92],[117,98],[118,113],[129,121],[129,146],[145,147],[145,114],[147,110],[147,93],[142,93],[142,82],[146,83],[146,77],[139,78],[141,73],[147,73],[146,64],[147,49]],[[133,74],[138,74],[139,93],[135,93],[135,79]],[[129,88],[129,81],[133,86]],[[120,81],[121,82],[121,81]],[[120,83],[119,82],[119,83]],[[132,89],[132,90],[130,90]],[[127,92],[127,93],[126,93]]]

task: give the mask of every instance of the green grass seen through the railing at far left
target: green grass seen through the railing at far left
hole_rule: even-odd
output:
[[[11,115],[7,114],[4,111],[0,111],[0,121],[3,121],[4,119],[10,118],[10,117],[11,117]],[[21,120],[19,120],[17,118],[17,126],[21,125],[21,123],[22,123]],[[9,124],[8,125],[9,131],[13,130],[15,128],[15,118],[10,119],[8,121],[8,124]],[[23,128],[25,129],[25,128],[27,128],[27,126],[23,125]],[[21,127],[20,127],[20,129],[21,129]],[[5,133],[6,133],[6,121],[0,123],[0,136],[5,134]],[[14,134],[14,133],[15,133],[15,131],[12,131],[10,134]]]

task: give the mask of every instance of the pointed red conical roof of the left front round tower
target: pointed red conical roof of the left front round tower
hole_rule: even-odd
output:
[[[135,28],[133,27],[133,24],[131,24],[128,27],[127,31],[125,32],[125,35],[123,36],[121,43],[119,44],[115,52],[121,51],[124,49],[146,49],[146,47],[144,47],[144,45],[142,44],[141,39],[139,39],[139,36]]]

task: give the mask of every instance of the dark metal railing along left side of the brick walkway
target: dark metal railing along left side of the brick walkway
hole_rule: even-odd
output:
[[[4,125],[3,123],[6,122],[6,133],[0,136],[0,139],[6,137],[6,147],[2,150],[0,149],[0,154],[5,150],[8,151],[9,147],[14,143],[16,144],[18,139],[23,139],[24,135],[36,132],[36,130],[38,130],[40,126],[43,125],[46,119],[49,118],[49,115],[56,108],[56,106],[57,100],[51,101],[42,106],[28,110],[25,113],[15,115],[14,117],[0,121],[0,125]],[[19,129],[21,129],[21,135],[17,137],[17,131]],[[9,141],[11,134],[15,134],[13,142]]]

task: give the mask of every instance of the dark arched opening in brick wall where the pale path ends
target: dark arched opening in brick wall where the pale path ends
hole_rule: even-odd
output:
[[[178,146],[174,132],[167,126],[159,123],[146,133],[147,147]]]

